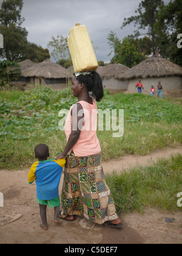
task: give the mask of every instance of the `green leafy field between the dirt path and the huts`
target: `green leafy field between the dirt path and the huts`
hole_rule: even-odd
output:
[[[46,143],[50,157],[66,145],[64,131],[58,129],[59,110],[76,102],[70,89],[52,91],[36,87],[31,91],[0,91],[0,168],[20,169],[34,161],[33,148]],[[182,106],[169,99],[144,94],[109,95],[106,91],[98,108],[124,109],[124,136],[98,131],[103,159],[125,154],[146,155],[155,149],[182,143]]]

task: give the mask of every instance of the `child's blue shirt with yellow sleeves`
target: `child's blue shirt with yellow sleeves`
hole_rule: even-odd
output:
[[[59,182],[65,163],[65,159],[50,159],[33,163],[28,178],[30,184],[36,182],[39,200],[52,200],[59,196]]]

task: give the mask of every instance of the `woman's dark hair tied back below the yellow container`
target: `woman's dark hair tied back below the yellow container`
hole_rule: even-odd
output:
[[[76,77],[79,84],[86,85],[87,91],[92,91],[93,96],[95,97],[96,101],[101,101],[104,97],[104,90],[103,90],[103,82],[101,77],[95,71],[92,71],[90,74],[83,74]]]

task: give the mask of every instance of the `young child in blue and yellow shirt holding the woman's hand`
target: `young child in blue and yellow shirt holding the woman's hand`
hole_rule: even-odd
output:
[[[46,208],[55,208],[55,224],[61,224],[58,219],[60,210],[59,182],[62,168],[66,160],[47,160],[49,157],[49,147],[46,144],[38,144],[35,149],[35,158],[38,162],[33,163],[28,175],[29,184],[36,182],[36,201],[39,203],[42,229],[48,230]]]

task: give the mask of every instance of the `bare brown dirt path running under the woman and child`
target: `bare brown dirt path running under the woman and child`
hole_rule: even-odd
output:
[[[150,160],[169,158],[170,155],[182,154],[182,146],[178,149],[157,151],[144,157],[133,155],[104,162],[104,172],[115,169],[121,172],[139,165],[149,165]],[[121,216],[125,225],[122,230],[113,230],[96,225],[92,230],[79,226],[75,222],[63,221],[61,227],[53,222],[53,209],[47,210],[49,230],[40,229],[39,207],[36,202],[36,185],[27,184],[29,169],[24,171],[0,171],[0,191],[4,194],[4,207],[0,207],[0,244],[133,244],[133,243],[182,243],[182,213],[159,212],[147,208],[144,215],[131,213]],[[61,191],[61,188],[60,188]],[[20,216],[16,221],[6,224],[7,216]],[[165,218],[175,218],[174,223],[167,224]],[[2,226],[2,224],[4,224]]]

